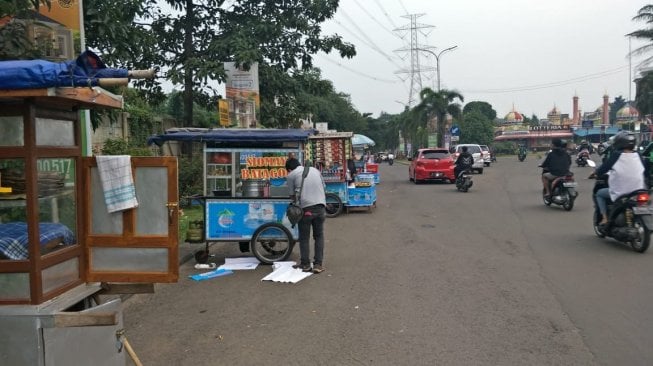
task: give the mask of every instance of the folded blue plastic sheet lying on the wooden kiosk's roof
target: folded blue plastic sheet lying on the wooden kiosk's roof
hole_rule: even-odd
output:
[[[126,78],[129,70],[108,68],[95,53],[85,51],[76,60],[0,61],[0,89],[40,89],[97,86],[102,78]]]

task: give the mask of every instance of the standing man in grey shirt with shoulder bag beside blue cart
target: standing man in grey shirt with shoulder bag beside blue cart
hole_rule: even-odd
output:
[[[302,183],[304,169],[308,169],[308,174]],[[286,179],[290,198],[294,200],[295,195],[299,194],[299,206],[304,210],[304,216],[298,224],[300,263],[295,268],[300,268],[304,272],[322,273],[324,271],[324,220],[326,218],[326,198],[322,174],[315,168],[302,167],[299,160],[295,158],[289,158],[286,161],[286,170],[288,170]],[[309,245],[311,228],[313,228],[315,241],[312,268]]]

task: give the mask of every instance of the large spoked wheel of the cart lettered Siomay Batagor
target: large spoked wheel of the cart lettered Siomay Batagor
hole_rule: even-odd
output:
[[[292,253],[295,240],[285,226],[276,222],[261,225],[250,242],[250,250],[264,264],[285,261]]]

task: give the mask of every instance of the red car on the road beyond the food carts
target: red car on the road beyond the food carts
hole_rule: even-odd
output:
[[[417,183],[424,181],[448,181],[454,183],[454,160],[449,150],[432,147],[417,150],[408,166],[408,179]]]

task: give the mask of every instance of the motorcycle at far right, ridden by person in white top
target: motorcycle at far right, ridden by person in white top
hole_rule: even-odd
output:
[[[592,166],[593,164],[590,164]],[[607,187],[607,177],[595,177],[592,199],[594,200],[594,215],[592,223],[594,233],[599,238],[611,237],[628,244],[638,253],[644,253],[651,241],[653,230],[653,209],[651,199],[646,189],[625,194],[615,202],[608,203],[608,223],[600,225],[602,215],[596,203],[595,194],[601,188]]]

